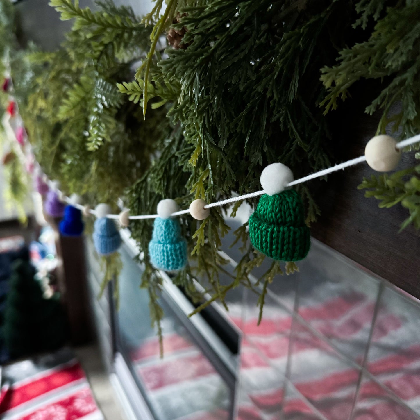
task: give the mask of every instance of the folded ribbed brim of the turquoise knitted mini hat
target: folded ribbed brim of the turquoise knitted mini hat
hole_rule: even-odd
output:
[[[187,261],[186,241],[181,240],[169,244],[150,241],[149,255],[150,262],[159,270],[181,270]]]

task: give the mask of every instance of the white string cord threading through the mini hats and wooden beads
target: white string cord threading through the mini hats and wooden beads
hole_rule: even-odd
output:
[[[418,142],[420,142],[420,134],[412,136],[409,139],[402,140],[401,142],[396,144],[396,148],[397,149],[403,149],[404,147],[410,146],[410,145],[418,143]],[[323,169],[322,171],[318,171],[318,172],[312,173],[310,175],[304,176],[303,178],[299,178],[295,181],[291,181],[291,182],[289,182],[289,184],[287,184],[287,186],[288,187],[289,186],[294,186],[294,185],[297,185],[297,184],[302,184],[304,182],[310,181],[310,180],[315,179],[315,178],[321,178],[325,175],[328,175],[328,173],[341,171],[345,168],[348,168],[349,166],[358,165],[359,163],[362,163],[362,162],[365,162],[365,161],[366,161],[365,155],[355,157],[354,159],[350,159],[350,160],[347,160],[346,162],[339,163],[337,165],[331,166],[331,168],[326,168],[326,169]],[[50,182],[50,185],[53,185],[53,183]],[[234,203],[234,202],[237,202],[237,201],[245,200],[247,198],[258,197],[258,196],[260,196],[264,193],[265,193],[264,190],[251,192],[249,194],[240,195],[238,197],[232,197],[232,198],[228,198],[228,199],[225,199],[225,200],[216,201],[214,203],[209,203],[209,204],[205,205],[204,208],[208,209],[208,208],[212,208],[212,207],[220,207],[220,206],[224,206],[226,204],[230,204],[230,203]],[[80,205],[80,204],[72,204],[71,199],[68,198],[68,197],[63,197],[63,199],[68,204],[73,205],[74,207],[78,208],[79,210],[84,210],[84,208],[85,208],[83,205]],[[89,209],[89,213],[91,213],[92,215],[96,215],[95,210],[90,210]],[[179,210],[175,213],[172,213],[171,216],[180,216],[180,215],[188,214],[188,213],[190,213],[189,209]],[[119,215],[118,214],[108,214],[106,217],[108,217],[110,219],[118,219]],[[129,219],[130,220],[142,220],[142,219],[155,219],[157,217],[158,217],[157,214],[144,214],[144,215],[129,216]]]

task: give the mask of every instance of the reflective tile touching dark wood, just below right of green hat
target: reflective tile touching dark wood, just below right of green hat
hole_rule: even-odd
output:
[[[314,239],[297,275],[299,315],[361,364],[379,281]]]

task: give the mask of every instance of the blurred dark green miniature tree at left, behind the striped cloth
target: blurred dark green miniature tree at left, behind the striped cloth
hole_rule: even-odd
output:
[[[66,341],[66,323],[58,297],[44,299],[34,275],[29,262],[13,263],[3,326],[11,357],[54,350]]]

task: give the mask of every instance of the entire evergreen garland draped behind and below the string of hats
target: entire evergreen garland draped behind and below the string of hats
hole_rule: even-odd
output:
[[[73,28],[58,51],[29,46],[13,53],[16,96],[42,168],[92,205],[121,197],[131,214],[144,214],[173,198],[186,208],[194,198],[260,189],[261,170],[273,162],[288,165],[295,177],[324,168],[337,141],[331,110],[360,79],[381,87],[378,96],[366,92],[372,95],[366,112],[382,112],[378,133],[388,125],[401,137],[420,132],[416,0],[156,0],[143,18],[111,0],[98,3],[99,11],[77,0],[50,4]],[[182,48],[164,42],[171,29],[183,34]],[[391,113],[395,103],[400,110]],[[381,206],[407,207],[402,228],[418,228],[418,182],[416,166],[373,176],[361,188]],[[310,188],[298,189],[307,223],[319,213]],[[228,214],[215,208],[201,222],[180,218],[190,258],[173,281],[194,300],[202,299],[194,278],[205,284],[209,302],[223,302],[239,285],[255,287],[248,275],[264,255],[249,244],[246,223],[235,232],[243,257],[231,283],[218,278],[226,263],[219,253],[224,216],[240,204]],[[161,280],[147,254],[152,225],[136,220],[130,227],[145,266],[141,286],[161,333]],[[105,262],[107,280],[120,262]],[[296,269],[275,261],[259,279],[260,317],[267,285]]]

